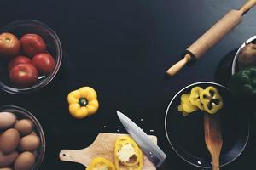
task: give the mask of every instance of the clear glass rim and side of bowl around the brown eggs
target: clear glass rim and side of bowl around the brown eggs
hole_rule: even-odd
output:
[[[8,111],[11,113],[14,113],[15,116],[17,117],[17,119],[29,119],[34,123],[34,132],[37,133],[39,139],[40,139],[40,146],[38,148],[38,154],[36,157],[36,161],[34,166],[32,167],[32,170],[36,170],[39,169],[42,161],[44,160],[44,153],[45,153],[45,138],[44,138],[44,131],[43,128],[41,127],[40,123],[38,122],[37,118],[35,116],[32,115],[32,113],[30,113],[29,111],[26,111],[23,108],[20,108],[18,106],[15,105],[3,105],[0,106],[0,112],[3,111]]]

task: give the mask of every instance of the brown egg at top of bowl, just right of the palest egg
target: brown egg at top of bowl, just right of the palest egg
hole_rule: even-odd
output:
[[[15,129],[20,133],[20,136],[25,136],[32,132],[34,123],[28,119],[22,119],[15,123]]]

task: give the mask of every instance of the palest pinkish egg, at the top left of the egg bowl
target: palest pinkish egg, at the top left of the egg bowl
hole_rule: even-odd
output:
[[[16,122],[16,116],[10,112],[0,112],[0,130],[13,126]]]

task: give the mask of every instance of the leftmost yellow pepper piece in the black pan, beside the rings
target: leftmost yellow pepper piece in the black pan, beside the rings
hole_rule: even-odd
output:
[[[184,115],[197,111],[197,107],[190,103],[189,96],[190,94],[183,94],[181,96],[181,105],[177,107],[177,110],[183,112]]]

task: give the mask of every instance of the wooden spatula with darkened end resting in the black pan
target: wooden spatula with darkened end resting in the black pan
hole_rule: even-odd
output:
[[[212,170],[219,170],[219,155],[223,145],[219,115],[204,115],[205,142],[212,157]]]

